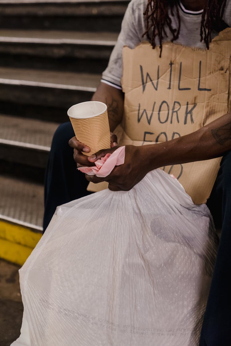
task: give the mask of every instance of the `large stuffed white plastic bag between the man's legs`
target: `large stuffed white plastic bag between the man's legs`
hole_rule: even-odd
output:
[[[30,345],[198,345],[214,239],[207,207],[160,169],[58,207],[20,270]]]

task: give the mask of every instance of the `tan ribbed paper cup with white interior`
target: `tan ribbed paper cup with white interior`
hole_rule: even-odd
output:
[[[68,116],[75,137],[90,148],[89,156],[100,149],[110,148],[110,129],[107,106],[99,101],[87,101],[74,104],[68,109]]]

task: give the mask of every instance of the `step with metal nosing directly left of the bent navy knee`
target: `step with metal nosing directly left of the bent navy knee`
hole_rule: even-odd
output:
[[[0,160],[44,169],[57,126],[0,114]]]

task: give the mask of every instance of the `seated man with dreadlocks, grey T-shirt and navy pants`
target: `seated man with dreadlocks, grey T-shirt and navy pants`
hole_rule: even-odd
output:
[[[108,67],[92,98],[107,104],[110,130],[116,128],[123,115],[121,77],[124,45],[134,48],[142,40],[148,39],[153,48],[160,45],[162,49],[162,42],[167,40],[187,46],[209,48],[211,38],[230,26],[230,13],[231,1],[149,0],[147,4],[146,0],[132,0],[125,13],[121,33]],[[112,191],[129,190],[146,173],[158,167],[224,155],[208,201],[215,221],[222,219],[222,233],[200,346],[228,346],[231,288],[226,273],[231,269],[231,113],[223,115],[192,134],[165,143],[148,145],[145,148],[126,146],[124,165],[115,167],[106,178],[86,175],[87,180],[83,180],[84,175],[76,171],[76,164],[72,159],[73,149],[67,144],[72,136],[74,134],[71,124],[66,123],[57,129],[53,138],[46,176],[44,229],[57,205],[88,194],[88,181],[98,183],[106,180]],[[75,137],[70,139],[69,144],[74,148],[74,160],[77,165],[86,166],[92,165],[106,153],[112,153],[117,146],[117,139],[113,134],[111,141],[111,149],[102,150],[90,157],[81,153],[88,152],[89,148]]]

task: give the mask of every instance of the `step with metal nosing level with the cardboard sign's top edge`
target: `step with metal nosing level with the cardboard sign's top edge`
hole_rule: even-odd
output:
[[[17,54],[45,55],[55,58],[68,56],[74,58],[91,58],[92,60],[108,60],[116,44],[116,40],[113,40],[115,35],[113,35],[110,40],[110,37],[109,39],[104,39],[101,37],[101,34],[97,35],[98,38],[90,38],[91,33],[87,35],[89,38],[80,38],[81,34],[76,35],[76,33],[75,35],[70,33],[69,37],[57,38],[57,34],[55,37],[52,37],[49,31],[47,31],[46,35],[44,35],[44,33],[40,35],[41,37],[35,37],[38,36],[35,34],[33,37],[33,31],[30,31],[30,35],[28,35],[28,30],[22,31],[20,36],[12,36],[12,34],[14,34],[14,32],[12,33],[11,30],[0,31],[0,52],[9,54],[16,54],[17,52]],[[65,32],[65,34],[68,33]],[[60,36],[61,35],[62,32],[60,32]],[[79,38],[73,38],[73,36]]]

